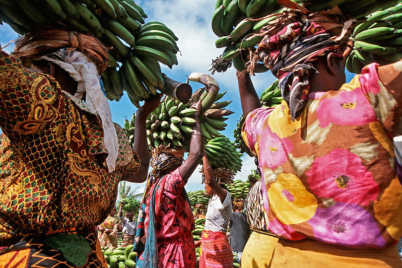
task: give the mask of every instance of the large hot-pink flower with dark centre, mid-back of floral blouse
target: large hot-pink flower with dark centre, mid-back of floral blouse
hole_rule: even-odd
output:
[[[380,191],[360,157],[345,149],[335,148],[314,159],[306,175],[316,196],[332,198],[335,202],[368,205]]]

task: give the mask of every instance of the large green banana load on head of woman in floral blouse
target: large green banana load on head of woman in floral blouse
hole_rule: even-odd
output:
[[[401,0],[281,0],[280,2],[281,5],[277,0],[217,0],[211,27],[219,37],[215,42],[216,48],[225,47],[222,58],[231,60],[237,70],[246,70],[249,51],[255,51],[264,37],[262,32],[268,25],[277,23],[275,19],[284,11],[295,8],[296,3],[302,5],[300,9],[306,17],[319,24],[328,24],[326,16],[329,16],[329,13],[317,12],[335,6],[342,15],[357,19],[354,23],[356,26],[353,37],[354,50],[348,57],[348,70],[360,73],[362,64],[374,61],[386,64],[398,61],[402,57]],[[360,26],[361,24],[363,25]],[[254,72],[267,70],[263,63],[259,63]]]

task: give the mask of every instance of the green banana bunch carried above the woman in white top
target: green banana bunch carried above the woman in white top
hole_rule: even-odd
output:
[[[207,140],[205,152],[212,168],[224,167],[236,173],[242,168],[243,154],[236,150],[234,142],[221,136]],[[217,174],[215,174],[216,176]]]

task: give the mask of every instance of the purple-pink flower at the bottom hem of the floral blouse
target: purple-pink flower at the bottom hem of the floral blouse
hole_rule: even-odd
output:
[[[355,204],[336,203],[318,207],[308,223],[313,227],[315,239],[342,246],[383,248],[377,222],[363,207]]]

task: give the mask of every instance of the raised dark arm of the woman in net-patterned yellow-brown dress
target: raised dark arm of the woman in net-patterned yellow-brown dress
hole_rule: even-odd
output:
[[[141,165],[138,168],[138,171],[134,174],[132,178],[130,178],[129,182],[134,183],[142,183],[146,180],[146,176],[148,175],[148,167],[149,167],[149,149],[148,142],[146,140],[146,118],[153,110],[158,107],[160,104],[160,98],[162,94],[155,95],[152,99],[145,101],[145,103],[138,108],[135,115],[135,135],[134,135],[134,145],[133,149],[139,156],[141,161]]]

